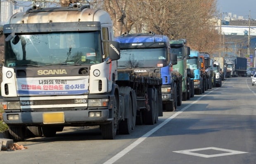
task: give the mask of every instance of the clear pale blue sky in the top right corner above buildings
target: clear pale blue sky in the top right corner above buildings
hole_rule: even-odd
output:
[[[244,16],[248,19],[249,10],[251,10],[251,18],[256,20],[256,0],[217,0],[217,9],[220,13],[232,13],[237,16]]]

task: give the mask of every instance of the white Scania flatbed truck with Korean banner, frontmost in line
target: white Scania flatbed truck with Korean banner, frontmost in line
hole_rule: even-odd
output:
[[[27,132],[47,137],[65,126],[95,125],[103,139],[114,139],[136,120],[157,122],[161,78],[118,72],[119,43],[107,12],[34,6],[14,14],[3,33],[3,120],[14,141]]]

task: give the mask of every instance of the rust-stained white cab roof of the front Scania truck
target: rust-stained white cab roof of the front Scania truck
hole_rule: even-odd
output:
[[[26,12],[12,15],[6,24],[13,23],[57,23],[57,22],[96,22],[112,25],[111,18],[104,10],[90,9],[90,6],[81,7],[32,7]]]

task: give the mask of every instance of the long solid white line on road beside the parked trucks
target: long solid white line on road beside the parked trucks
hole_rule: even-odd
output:
[[[223,83],[225,84],[226,81]],[[219,87],[220,88],[220,87]],[[218,90],[219,88],[215,88],[214,90]],[[106,162],[104,162],[104,164],[113,164],[114,162],[116,162],[118,159],[120,159],[121,157],[123,157],[124,155],[126,155],[130,150],[132,150],[133,148],[135,148],[137,145],[139,145],[140,143],[142,143],[142,141],[144,141],[145,139],[147,139],[147,137],[149,137],[151,134],[153,134],[154,132],[156,132],[158,129],[160,129],[161,127],[163,127],[164,125],[166,125],[168,122],[170,122],[173,118],[175,118],[177,115],[179,115],[180,113],[182,113],[183,111],[185,111],[187,108],[189,108],[190,106],[192,106],[193,104],[197,103],[200,99],[202,99],[203,97],[205,97],[206,95],[209,95],[211,92],[213,92],[214,90],[211,90],[210,92],[208,92],[205,95],[202,95],[201,97],[199,97],[196,101],[192,102],[191,104],[188,104],[187,106],[185,106],[183,109],[181,109],[180,111],[176,112],[175,114],[173,114],[171,117],[167,118],[166,120],[164,120],[164,122],[162,122],[161,124],[157,125],[156,127],[154,127],[153,129],[151,129],[149,132],[147,132],[146,134],[144,134],[143,136],[141,136],[139,139],[137,139],[136,141],[134,141],[133,143],[131,143],[129,146],[127,146],[126,148],[124,148],[121,152],[117,153],[114,157],[110,158],[109,160],[107,160]]]

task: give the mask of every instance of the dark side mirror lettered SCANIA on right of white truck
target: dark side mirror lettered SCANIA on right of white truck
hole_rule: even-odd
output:
[[[106,41],[108,42],[109,48],[109,59],[119,60],[120,59],[120,44],[115,41]]]

